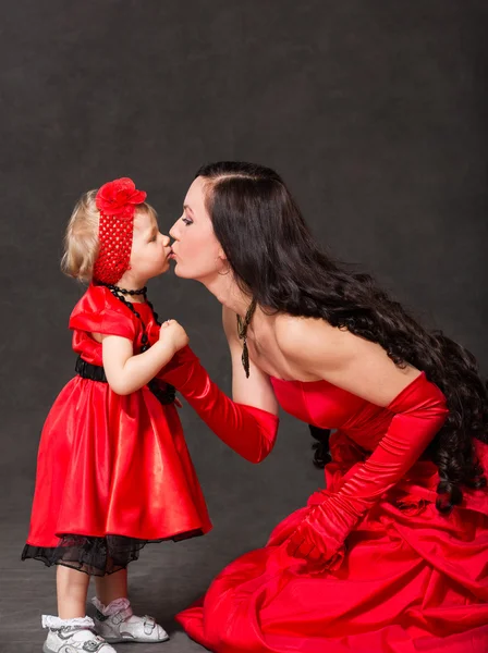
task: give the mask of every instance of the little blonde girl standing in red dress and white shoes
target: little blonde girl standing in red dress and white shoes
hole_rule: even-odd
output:
[[[66,231],[63,269],[91,283],[70,318],[77,375],[42,430],[22,555],[58,565],[45,653],[167,640],[151,617],[133,615],[126,566],[147,542],[211,528],[174,389],[155,380],[187,336],[174,320],[160,326],[146,297],[171,248],[145,198],[130,178],[105,184],[82,197]],[[85,612],[90,576],[95,619]]]

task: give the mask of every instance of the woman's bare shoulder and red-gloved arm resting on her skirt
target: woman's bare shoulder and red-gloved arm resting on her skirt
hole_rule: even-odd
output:
[[[398,483],[442,427],[440,390],[415,368],[396,367],[377,345],[316,320],[283,321],[280,347],[297,374],[317,374],[393,415],[370,457],[322,504],[310,509],[289,543],[298,557],[330,559],[380,496]],[[300,377],[298,377],[300,378]]]

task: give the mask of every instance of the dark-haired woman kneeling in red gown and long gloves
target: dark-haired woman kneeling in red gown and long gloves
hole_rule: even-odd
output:
[[[223,306],[234,402],[188,348],[163,379],[248,460],[271,451],[281,405],[327,463],[326,489],[179,615],[188,634],[219,653],[488,650],[488,398],[473,356],[327,258],[267,168],[200,169],[170,233],[175,273]]]

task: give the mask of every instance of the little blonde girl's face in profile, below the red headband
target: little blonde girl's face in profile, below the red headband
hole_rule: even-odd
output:
[[[168,270],[170,238],[160,233],[150,211],[136,211],[131,250],[131,271],[139,279],[152,279]]]

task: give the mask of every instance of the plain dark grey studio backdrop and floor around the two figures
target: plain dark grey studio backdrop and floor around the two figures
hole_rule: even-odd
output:
[[[373,271],[486,372],[488,5],[19,0],[2,9],[0,651],[29,653],[45,638],[40,614],[56,609],[53,570],[20,554],[40,429],[73,374],[66,322],[82,289],[59,259],[77,197],[133,176],[168,231],[202,163],[276,168],[321,243]],[[220,305],[172,273],[150,296],[229,391]],[[135,609],[172,633],[167,653],[202,650],[172,615],[322,483],[306,427],[289,417],[260,466],[187,406],[181,417],[215,529],[149,545],[130,566]]]

